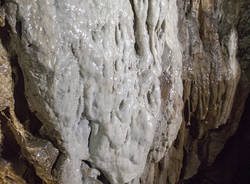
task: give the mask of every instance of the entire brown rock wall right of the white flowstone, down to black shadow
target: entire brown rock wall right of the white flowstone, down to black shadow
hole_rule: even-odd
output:
[[[235,134],[249,94],[250,2],[197,0],[177,4],[183,46],[183,124],[166,156],[158,163],[149,163],[141,181],[228,184],[233,180],[219,179],[226,173],[223,165],[213,163]]]

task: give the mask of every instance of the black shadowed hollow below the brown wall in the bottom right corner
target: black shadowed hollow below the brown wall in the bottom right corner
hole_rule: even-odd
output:
[[[250,183],[250,95],[245,104],[239,128],[226,143],[214,164],[198,172],[185,184]]]

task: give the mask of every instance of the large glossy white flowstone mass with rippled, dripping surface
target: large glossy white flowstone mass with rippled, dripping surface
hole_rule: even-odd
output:
[[[181,123],[176,1],[6,0],[6,11],[30,108],[67,156],[60,182],[81,183],[82,160],[112,184],[139,177],[162,120],[162,70],[169,145]]]

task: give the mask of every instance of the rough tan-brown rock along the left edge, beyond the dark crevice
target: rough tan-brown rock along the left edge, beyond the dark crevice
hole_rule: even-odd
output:
[[[14,112],[13,80],[10,59],[2,43],[0,44],[0,58],[1,146],[5,144],[3,141],[11,142],[11,140],[8,140],[9,137],[4,137],[4,135],[10,134],[13,136],[10,138],[14,139],[17,144],[19,144],[22,155],[35,167],[36,174],[46,183],[54,183],[55,180],[51,176],[51,169],[56,161],[58,150],[54,148],[49,141],[31,135],[16,118]],[[1,152],[4,152],[5,149],[8,148],[4,147],[3,150],[1,149]],[[21,176],[15,173],[13,170],[14,166],[12,166],[11,163],[0,158],[0,165],[2,168],[0,171],[1,183],[26,183]]]

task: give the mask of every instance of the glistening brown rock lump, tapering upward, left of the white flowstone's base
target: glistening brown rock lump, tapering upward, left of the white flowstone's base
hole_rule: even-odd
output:
[[[54,183],[55,179],[51,172],[58,156],[58,150],[49,141],[33,137],[24,130],[12,109],[10,109],[10,113],[9,126],[21,147],[22,155],[34,166],[36,174],[40,178],[46,183]]]

